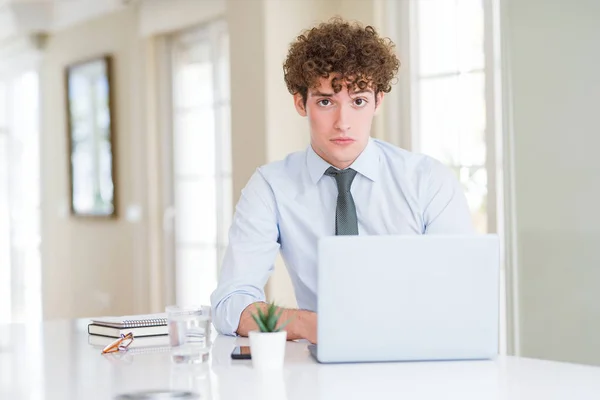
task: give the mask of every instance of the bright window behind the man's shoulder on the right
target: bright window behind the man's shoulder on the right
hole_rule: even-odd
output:
[[[414,4],[414,150],[452,168],[477,231],[486,233],[490,210],[483,0]]]

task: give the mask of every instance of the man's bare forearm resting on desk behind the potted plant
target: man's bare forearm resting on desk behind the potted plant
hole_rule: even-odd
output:
[[[262,311],[268,308],[267,303],[257,302],[252,303],[242,311],[240,316],[240,324],[238,325],[237,334],[240,336],[248,336],[248,332],[258,329],[256,322],[252,318],[252,314],[256,313],[256,307]],[[284,328],[287,331],[288,340],[306,339],[311,343],[317,343],[317,314],[306,310],[293,310],[283,308],[283,312],[279,317],[278,326],[290,321]]]

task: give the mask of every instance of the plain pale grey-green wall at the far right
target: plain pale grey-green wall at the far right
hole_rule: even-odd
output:
[[[505,3],[521,354],[600,365],[600,2]]]

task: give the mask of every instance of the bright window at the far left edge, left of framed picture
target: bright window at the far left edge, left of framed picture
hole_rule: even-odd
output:
[[[38,74],[0,79],[0,320],[41,319]]]

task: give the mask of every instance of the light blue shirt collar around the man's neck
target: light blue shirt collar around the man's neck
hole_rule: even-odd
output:
[[[327,168],[331,167],[327,161],[315,153],[311,145],[308,146],[306,151],[306,165],[310,179],[314,184],[319,182]],[[348,168],[352,168],[372,181],[377,180],[379,177],[379,153],[373,139],[369,138],[365,149]]]

